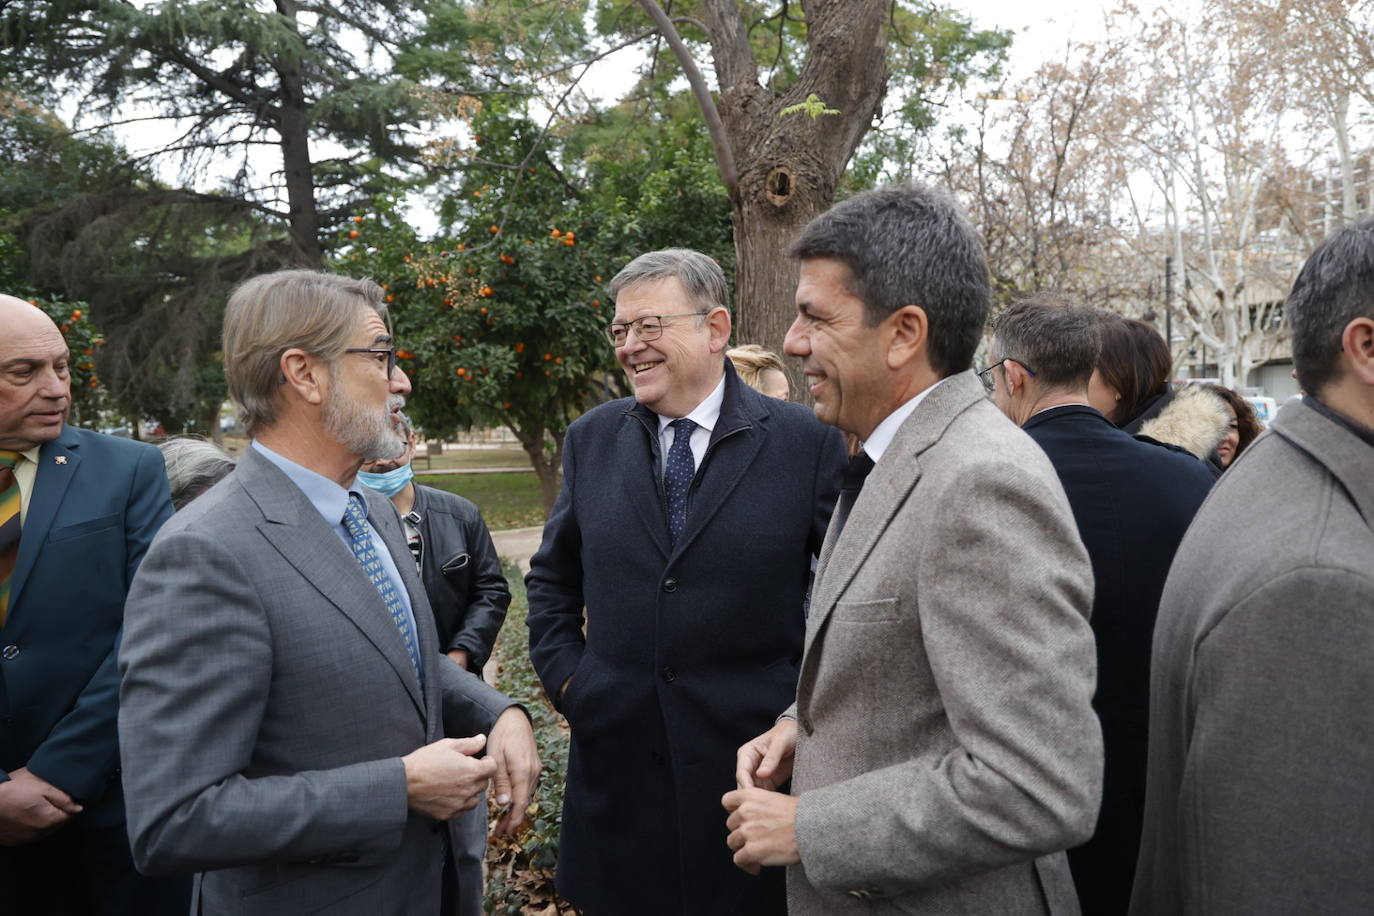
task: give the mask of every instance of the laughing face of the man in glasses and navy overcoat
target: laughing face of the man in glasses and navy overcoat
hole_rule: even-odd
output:
[[[655,314],[701,312],[677,277],[644,280],[616,297],[617,324]],[[640,341],[629,331],[616,360],[635,386],[635,400],[660,416],[687,416],[706,400],[724,374],[730,313],[716,308],[705,317],[664,319],[662,335]]]

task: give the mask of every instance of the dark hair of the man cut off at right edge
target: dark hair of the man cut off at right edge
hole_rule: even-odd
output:
[[[1348,225],[1316,246],[1283,308],[1293,325],[1297,382],[1320,396],[1340,374],[1347,325],[1374,319],[1374,218]]]

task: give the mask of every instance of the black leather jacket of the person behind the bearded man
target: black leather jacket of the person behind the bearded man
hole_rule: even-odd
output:
[[[492,534],[470,500],[430,486],[415,485],[411,514],[419,516],[420,580],[438,647],[467,650],[469,667],[480,676],[511,604]]]

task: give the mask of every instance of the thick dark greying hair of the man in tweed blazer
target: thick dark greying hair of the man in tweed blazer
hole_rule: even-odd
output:
[[[857,194],[812,220],[789,254],[848,266],[849,293],[863,301],[870,327],[907,305],[925,309],[937,372],[973,364],[992,297],[988,262],[978,233],[943,191],[896,184]]]

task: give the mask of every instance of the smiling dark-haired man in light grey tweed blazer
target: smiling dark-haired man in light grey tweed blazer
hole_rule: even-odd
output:
[[[785,347],[863,453],[797,702],[741,747],[724,798],[735,862],[787,865],[791,913],[1077,912],[1062,850],[1102,784],[1092,574],[1054,468],[970,369],[977,236],[944,194],[892,187],[793,254]]]

